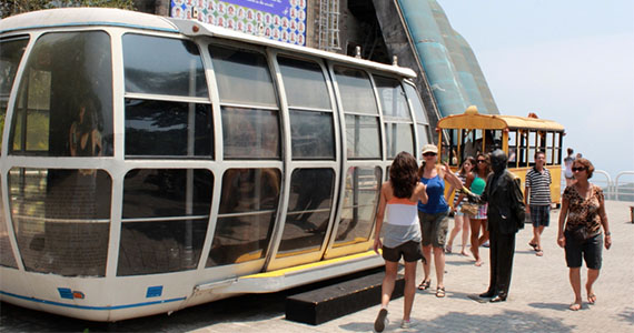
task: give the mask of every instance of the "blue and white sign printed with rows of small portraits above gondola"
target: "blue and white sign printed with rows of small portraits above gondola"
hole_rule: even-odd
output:
[[[171,0],[170,17],[306,44],[307,0]]]

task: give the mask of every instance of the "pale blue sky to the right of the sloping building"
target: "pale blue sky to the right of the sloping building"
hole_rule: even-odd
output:
[[[613,179],[634,171],[634,1],[437,2],[472,46],[501,113],[555,120],[564,147],[596,169]]]

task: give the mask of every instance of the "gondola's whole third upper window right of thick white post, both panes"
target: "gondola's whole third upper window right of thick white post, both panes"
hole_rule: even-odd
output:
[[[335,129],[324,72],[315,62],[278,57],[290,109],[294,160],[334,160]]]

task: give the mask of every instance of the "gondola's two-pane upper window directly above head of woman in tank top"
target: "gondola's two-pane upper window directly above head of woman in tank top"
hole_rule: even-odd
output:
[[[378,75],[374,79],[385,121],[387,158],[394,159],[402,151],[414,153],[414,122],[405,91],[398,80]]]

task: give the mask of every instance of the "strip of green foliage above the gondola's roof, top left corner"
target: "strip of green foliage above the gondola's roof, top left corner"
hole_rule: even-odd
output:
[[[3,0],[0,2],[0,16],[10,16],[52,8],[66,7],[108,7],[133,10],[133,0]]]

